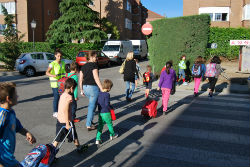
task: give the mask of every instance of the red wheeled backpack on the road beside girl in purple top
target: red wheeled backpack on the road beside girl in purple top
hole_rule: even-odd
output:
[[[144,117],[153,117],[157,115],[157,105],[158,102],[155,100],[148,100],[146,104],[142,107],[141,115]]]

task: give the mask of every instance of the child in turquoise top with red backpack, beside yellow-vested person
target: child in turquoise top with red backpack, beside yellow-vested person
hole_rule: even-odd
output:
[[[77,110],[77,101],[78,101],[78,64],[76,62],[72,62],[70,64],[70,72],[67,74],[68,77],[73,78],[77,84],[74,89],[74,94],[72,95],[72,118],[73,122],[80,122],[80,119],[76,119],[76,110]]]

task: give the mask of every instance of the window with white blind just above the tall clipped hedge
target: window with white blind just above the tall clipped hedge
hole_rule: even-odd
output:
[[[209,14],[211,21],[229,21],[229,7],[202,7],[199,14]]]

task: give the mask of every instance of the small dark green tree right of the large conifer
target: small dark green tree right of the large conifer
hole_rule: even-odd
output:
[[[120,32],[117,29],[117,26],[113,25],[111,22],[107,20],[107,18],[103,18],[101,20],[101,29],[106,32],[107,34],[112,34],[113,39],[120,38]]]

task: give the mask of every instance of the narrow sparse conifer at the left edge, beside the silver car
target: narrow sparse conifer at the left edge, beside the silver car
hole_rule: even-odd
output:
[[[19,44],[24,34],[18,36],[20,33],[15,26],[15,16],[8,14],[7,9],[2,6],[2,12],[5,16],[4,22],[6,28],[1,30],[4,35],[4,42],[0,45],[0,61],[4,62],[5,68],[13,70],[18,56],[20,56]]]

